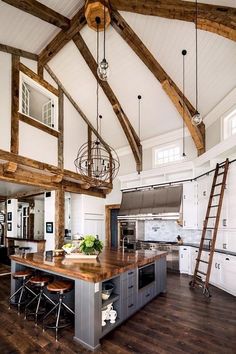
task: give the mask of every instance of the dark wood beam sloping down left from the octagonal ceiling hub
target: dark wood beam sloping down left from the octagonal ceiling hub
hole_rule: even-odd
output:
[[[39,62],[45,66],[86,24],[84,7],[71,19],[70,27],[60,31],[39,54]]]

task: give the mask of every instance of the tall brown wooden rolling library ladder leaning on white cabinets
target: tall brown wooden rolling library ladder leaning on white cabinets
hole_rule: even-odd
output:
[[[217,164],[215,174],[212,181],[211,193],[206,211],[206,217],[203,224],[202,237],[199,246],[198,255],[196,258],[196,266],[193,274],[193,278],[189,285],[191,288],[199,286],[203,289],[203,294],[210,297],[209,280],[211,275],[211,266],[213,261],[213,255],[215,251],[215,243],[218,232],[218,226],[220,221],[220,213],[224,198],[224,191],[226,185],[226,178],[229,168],[229,160]],[[210,226],[209,226],[210,224]],[[207,230],[212,231],[212,238],[209,238]],[[209,242],[209,254],[208,259],[203,259],[202,251],[206,247],[205,241]],[[200,270],[201,263],[206,264],[206,271]],[[204,269],[205,270],[205,269]]]

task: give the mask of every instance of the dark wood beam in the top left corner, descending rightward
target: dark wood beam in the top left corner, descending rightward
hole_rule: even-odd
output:
[[[47,7],[36,0],[3,0],[7,4],[17,7],[18,9],[29,13],[35,17],[40,18],[43,21],[46,21],[54,26],[60,27],[63,30],[66,30],[70,26],[70,20],[59,14],[58,12],[52,10],[50,7]]]

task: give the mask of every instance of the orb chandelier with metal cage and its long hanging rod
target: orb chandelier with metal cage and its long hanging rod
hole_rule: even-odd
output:
[[[96,17],[97,23],[97,65],[98,65],[98,53],[99,53],[99,24],[101,20]],[[96,87],[96,123],[97,123],[97,136],[101,136],[101,122],[102,116],[99,115],[99,84],[97,79]],[[100,124],[99,124],[100,118]],[[100,128],[100,134],[99,134]],[[77,153],[77,157],[74,161],[76,170],[82,176],[89,176],[94,179],[97,186],[102,186],[104,182],[112,183],[116,177],[120,162],[116,151],[108,144],[103,144],[99,138],[96,138],[92,142],[86,142],[83,144]]]

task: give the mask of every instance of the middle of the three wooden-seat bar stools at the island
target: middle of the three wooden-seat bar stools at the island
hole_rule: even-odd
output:
[[[44,288],[45,286],[50,283],[51,278],[47,276],[34,276],[29,279],[30,285],[34,286],[35,288],[38,288],[38,293],[33,297],[33,299],[25,306],[25,318],[27,318],[27,315],[33,315],[34,316],[34,321],[35,325],[37,326],[38,324],[38,315],[42,315],[45,312],[40,312],[40,306],[42,305],[42,302],[48,301],[50,302],[53,306],[55,306],[55,302],[50,299],[45,293],[44,293]],[[30,306],[37,301],[36,309],[33,312],[30,312]]]

